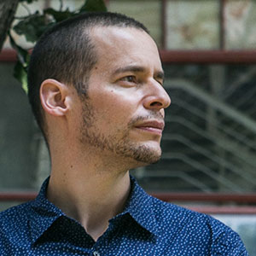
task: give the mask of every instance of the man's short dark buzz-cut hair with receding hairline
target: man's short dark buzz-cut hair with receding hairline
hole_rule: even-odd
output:
[[[90,28],[94,26],[135,27],[148,33],[142,23],[125,15],[94,12],[64,20],[39,38],[28,68],[28,97],[46,142],[47,127],[39,98],[40,86],[45,79],[56,79],[72,85],[79,96],[86,97],[90,70],[97,61],[90,38]]]

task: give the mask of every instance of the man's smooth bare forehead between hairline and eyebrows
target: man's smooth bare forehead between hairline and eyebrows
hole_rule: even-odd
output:
[[[91,39],[96,46],[97,63],[110,67],[139,65],[161,70],[160,55],[154,40],[133,27],[95,27]]]

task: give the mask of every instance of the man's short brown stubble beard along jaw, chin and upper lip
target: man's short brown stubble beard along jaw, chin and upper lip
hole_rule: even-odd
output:
[[[90,105],[90,99],[85,99],[83,100],[79,141],[82,144],[89,144],[96,149],[108,150],[113,154],[136,160],[138,166],[154,164],[160,160],[160,147],[158,149],[150,148],[145,144],[132,142],[129,136],[131,127],[139,119],[145,119],[145,117],[131,120],[127,128],[122,131],[123,135],[121,137],[118,137],[118,135],[106,137],[96,127],[96,112]]]

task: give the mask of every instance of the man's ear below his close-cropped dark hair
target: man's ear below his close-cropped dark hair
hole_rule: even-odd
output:
[[[46,113],[63,116],[67,113],[67,85],[46,79],[40,87],[40,99]]]

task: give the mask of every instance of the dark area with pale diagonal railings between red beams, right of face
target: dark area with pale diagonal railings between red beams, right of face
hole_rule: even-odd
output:
[[[162,160],[135,175],[156,191],[255,191],[256,67],[195,67],[200,79],[185,65],[167,77]]]

